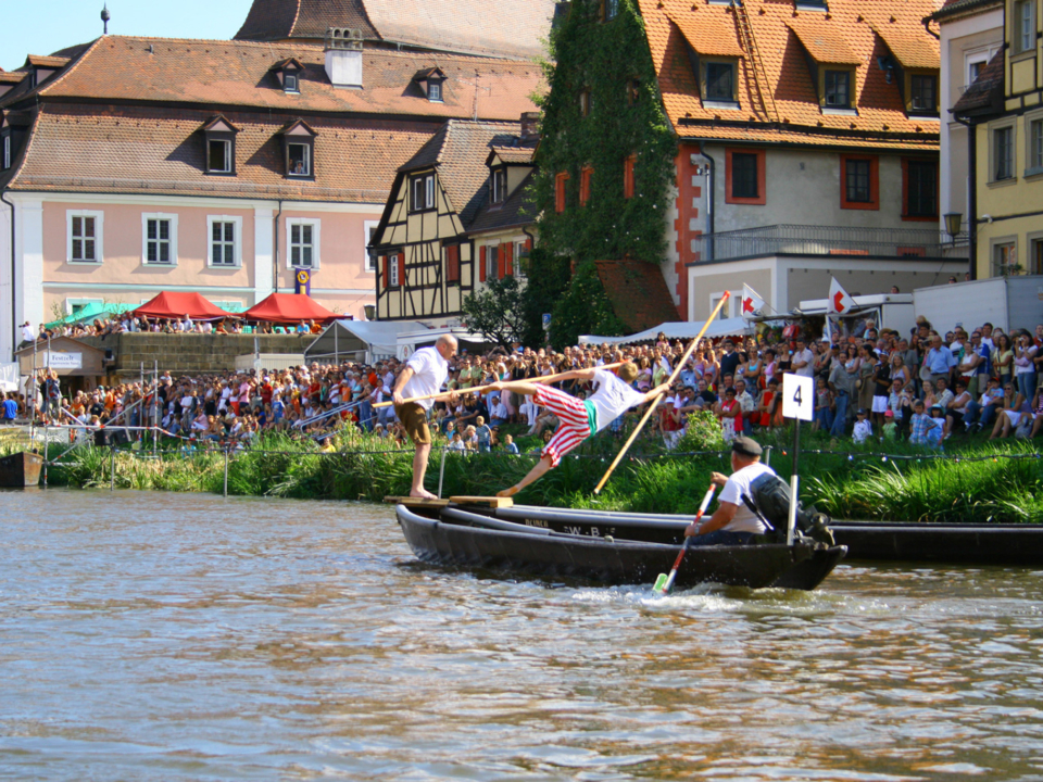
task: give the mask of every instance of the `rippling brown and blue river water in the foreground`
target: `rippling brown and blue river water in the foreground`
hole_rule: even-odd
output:
[[[652,598],[147,492],[0,493],[0,535],[2,779],[1043,779],[1043,572]]]

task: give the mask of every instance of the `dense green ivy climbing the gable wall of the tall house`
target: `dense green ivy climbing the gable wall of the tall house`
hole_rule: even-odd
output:
[[[615,18],[601,18],[602,0],[573,0],[550,39],[540,97],[542,141],[530,198],[540,244],[583,270],[583,295],[558,299],[552,321],[555,344],[573,332],[598,332],[612,312],[591,262],[630,257],[659,264],[666,251],[666,215],[677,142],[663,111],[655,66],[637,0],[617,0]],[[580,93],[590,97],[587,116]],[[634,194],[625,198],[625,162],[636,156]],[[579,203],[581,172],[592,169],[590,198]],[[566,205],[555,211],[555,181],[567,173]],[[592,276],[592,279],[591,279]],[[585,299],[594,297],[601,301]],[[604,306],[602,306],[602,302]],[[578,306],[578,312],[564,312]],[[616,327],[620,326],[615,318]],[[604,333],[604,330],[601,331]]]

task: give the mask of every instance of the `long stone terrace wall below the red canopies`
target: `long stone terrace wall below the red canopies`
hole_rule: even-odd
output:
[[[115,363],[110,376],[136,378],[141,363],[148,371],[159,362],[160,371],[174,375],[225,371],[236,368],[236,356],[254,352],[254,339],[262,353],[303,353],[313,335],[165,335],[121,333],[109,337],[80,337],[81,342],[99,350],[111,350]]]

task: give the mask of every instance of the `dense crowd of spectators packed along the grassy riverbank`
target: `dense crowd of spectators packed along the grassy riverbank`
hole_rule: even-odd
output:
[[[781,427],[780,391],[787,373],[814,379],[813,427],[837,439],[908,439],[939,447],[954,433],[1034,437],[1043,427],[1043,325],[1034,332],[1004,333],[983,324],[969,332],[957,328],[939,333],[921,319],[904,335],[878,329],[870,320],[851,336],[834,332],[822,339],[810,331],[791,323],[756,337],[703,340],[658,403],[650,433],[673,449],[689,415],[700,411],[719,421],[726,440]],[[686,348],[661,335],[649,344],[581,345],[561,352],[518,344],[485,355],[462,350],[451,363],[448,388],[466,391],[498,380],[633,361],[639,367],[634,386],[648,391],[666,380]],[[38,407],[41,420],[52,424],[159,426],[169,436],[198,441],[244,442],[257,432],[282,431],[322,442],[344,431],[347,424],[351,434],[370,433],[404,444],[392,407],[381,405],[391,401],[402,366],[389,358],[373,365],[312,364],[176,379],[165,374],[154,400],[151,388],[136,382],[70,395],[62,393],[56,376],[41,377]],[[562,387],[580,398],[590,392],[579,380]],[[25,400],[13,401],[24,417]],[[506,392],[460,394],[455,404],[438,402],[431,417],[445,445],[478,452],[517,453],[513,438],[501,434],[504,427],[543,437],[557,424],[531,396]],[[623,419],[611,427],[616,432],[621,428]]]

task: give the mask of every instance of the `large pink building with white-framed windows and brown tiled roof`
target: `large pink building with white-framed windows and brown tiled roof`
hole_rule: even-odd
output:
[[[292,290],[362,317],[400,166],[447,121],[517,122],[517,59],[302,42],[104,36],[0,78],[0,345],[92,303]],[[437,89],[436,89],[437,86]],[[12,241],[13,237],[13,241]]]

